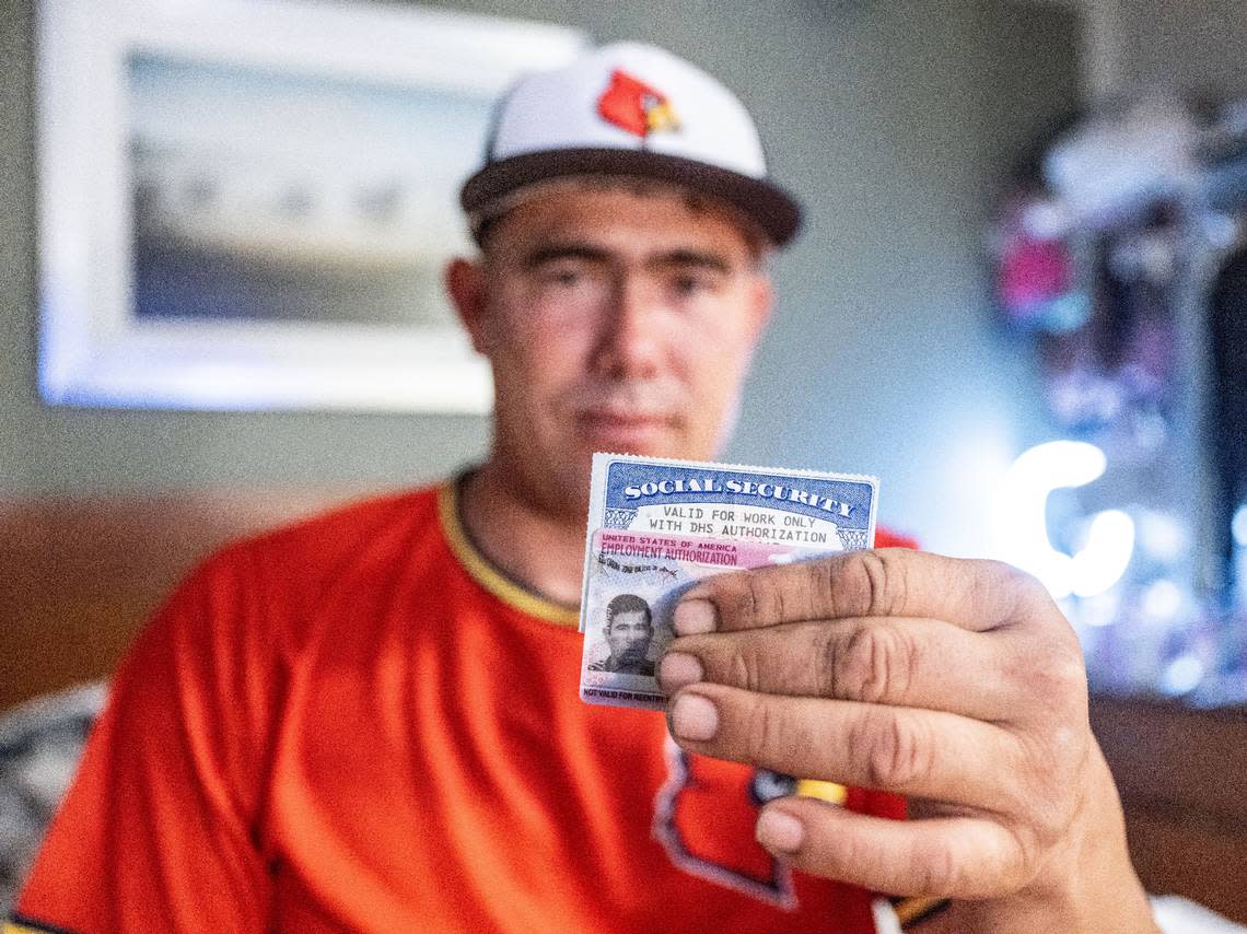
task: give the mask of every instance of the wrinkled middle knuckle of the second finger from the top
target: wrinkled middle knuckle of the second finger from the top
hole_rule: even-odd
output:
[[[833,633],[823,653],[828,696],[868,703],[899,702],[913,681],[913,638],[895,626]]]

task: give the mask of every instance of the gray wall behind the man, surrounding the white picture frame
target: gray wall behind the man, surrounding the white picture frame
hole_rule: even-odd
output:
[[[1005,160],[1075,97],[1057,7],[918,0],[476,0],[453,9],[640,37],[734,87],[808,203],[732,459],[869,471],[882,516],[981,552],[988,480],[1042,436],[1034,374],[994,335],[983,224]],[[0,494],[414,483],[488,424],[409,415],[45,407],[35,389],[32,12],[0,0]]]

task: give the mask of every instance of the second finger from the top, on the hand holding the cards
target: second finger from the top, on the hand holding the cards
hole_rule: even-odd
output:
[[[1005,677],[1011,648],[940,620],[793,622],[677,638],[658,681],[668,696],[708,682],[995,721],[1023,700],[1018,682]]]

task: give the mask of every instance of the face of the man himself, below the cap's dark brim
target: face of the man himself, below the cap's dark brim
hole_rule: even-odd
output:
[[[496,387],[494,456],[582,513],[594,451],[713,458],[771,307],[741,227],[675,191],[552,187],[448,274]]]

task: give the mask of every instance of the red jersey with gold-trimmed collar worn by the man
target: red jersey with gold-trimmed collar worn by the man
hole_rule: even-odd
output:
[[[14,929],[873,930],[753,840],[791,779],[582,703],[580,650],[453,485],[234,545],[117,672]]]

